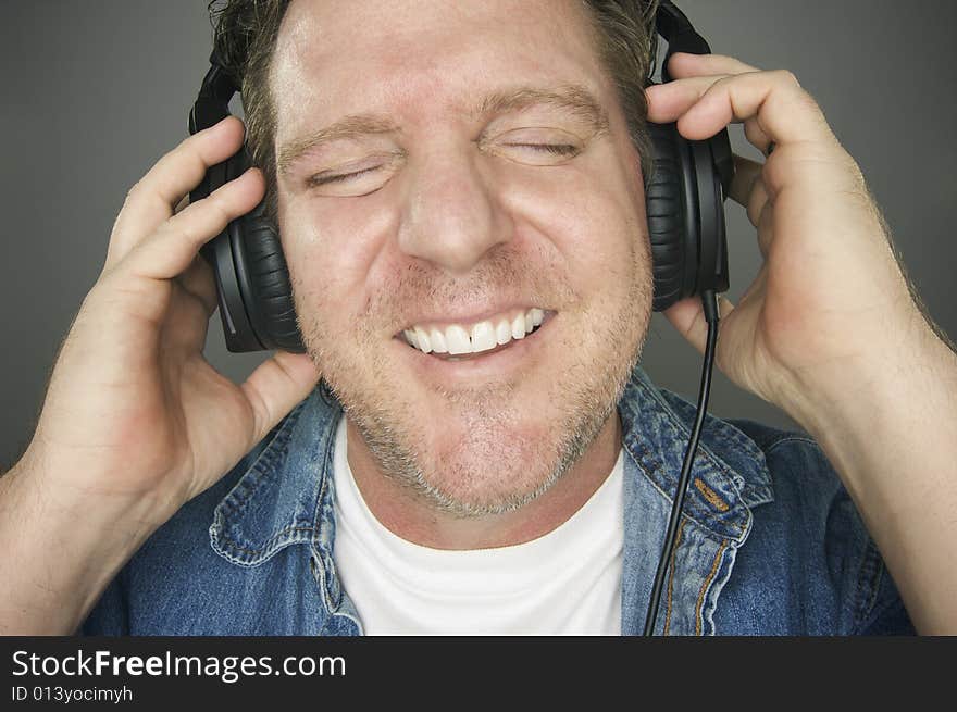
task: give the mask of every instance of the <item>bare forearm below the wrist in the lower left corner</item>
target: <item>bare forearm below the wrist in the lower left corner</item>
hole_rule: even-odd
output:
[[[157,528],[146,500],[79,497],[20,463],[0,478],[0,634],[70,635]]]

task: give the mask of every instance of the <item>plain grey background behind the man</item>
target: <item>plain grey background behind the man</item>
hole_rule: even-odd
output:
[[[931,316],[957,336],[950,210],[957,198],[957,3],[953,0],[683,0],[716,52],[795,72],[823,107],[883,208]],[[0,0],[0,467],[35,427],[59,345],[99,274],[127,189],[186,133],[207,68],[201,0]],[[738,152],[756,157],[739,127]],[[731,203],[729,203],[731,205]],[[744,210],[728,209],[732,301],[760,255]],[[235,379],[261,355],[210,360]],[[643,364],[694,401],[700,357],[655,315]],[[710,410],[793,427],[717,372]]]

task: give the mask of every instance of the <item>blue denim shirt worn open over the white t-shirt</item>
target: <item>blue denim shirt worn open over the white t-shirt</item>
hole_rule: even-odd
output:
[[[636,367],[624,447],[621,628],[639,635],[695,407]],[[325,384],[130,559],[89,635],[360,635],[333,561],[339,403]],[[806,435],[708,415],[656,621],[664,635],[913,633]]]

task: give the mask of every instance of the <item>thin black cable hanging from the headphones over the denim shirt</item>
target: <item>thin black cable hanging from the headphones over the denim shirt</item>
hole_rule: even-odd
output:
[[[671,519],[668,521],[668,529],[664,535],[664,549],[658,561],[658,572],[655,574],[655,586],[651,588],[651,600],[648,603],[648,614],[645,617],[645,635],[655,633],[655,619],[658,617],[658,604],[661,602],[661,590],[664,587],[664,575],[668,573],[668,562],[674,550],[674,540],[678,536],[678,522],[681,519],[681,510],[684,505],[684,496],[687,492],[691,479],[692,463],[695,460],[695,451],[698,449],[698,437],[701,434],[701,424],[705,422],[705,413],[708,410],[708,395],[711,391],[711,370],[714,365],[714,346],[718,343],[718,300],[712,290],[701,293],[701,309],[705,312],[705,321],[708,322],[708,342],[705,346],[705,364],[701,370],[701,388],[698,391],[698,412],[695,415],[695,427],[692,430],[691,440],[684,451],[684,464],[681,469],[681,477],[678,480],[678,491],[674,495],[674,503],[671,505]]]

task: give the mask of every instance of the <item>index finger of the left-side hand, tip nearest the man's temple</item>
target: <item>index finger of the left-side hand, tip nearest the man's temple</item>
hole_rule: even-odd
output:
[[[256,208],[264,191],[262,173],[249,168],[167,220],[117,265],[117,271],[128,270],[144,278],[172,279],[186,271],[200,247],[223,232],[231,221]]]

